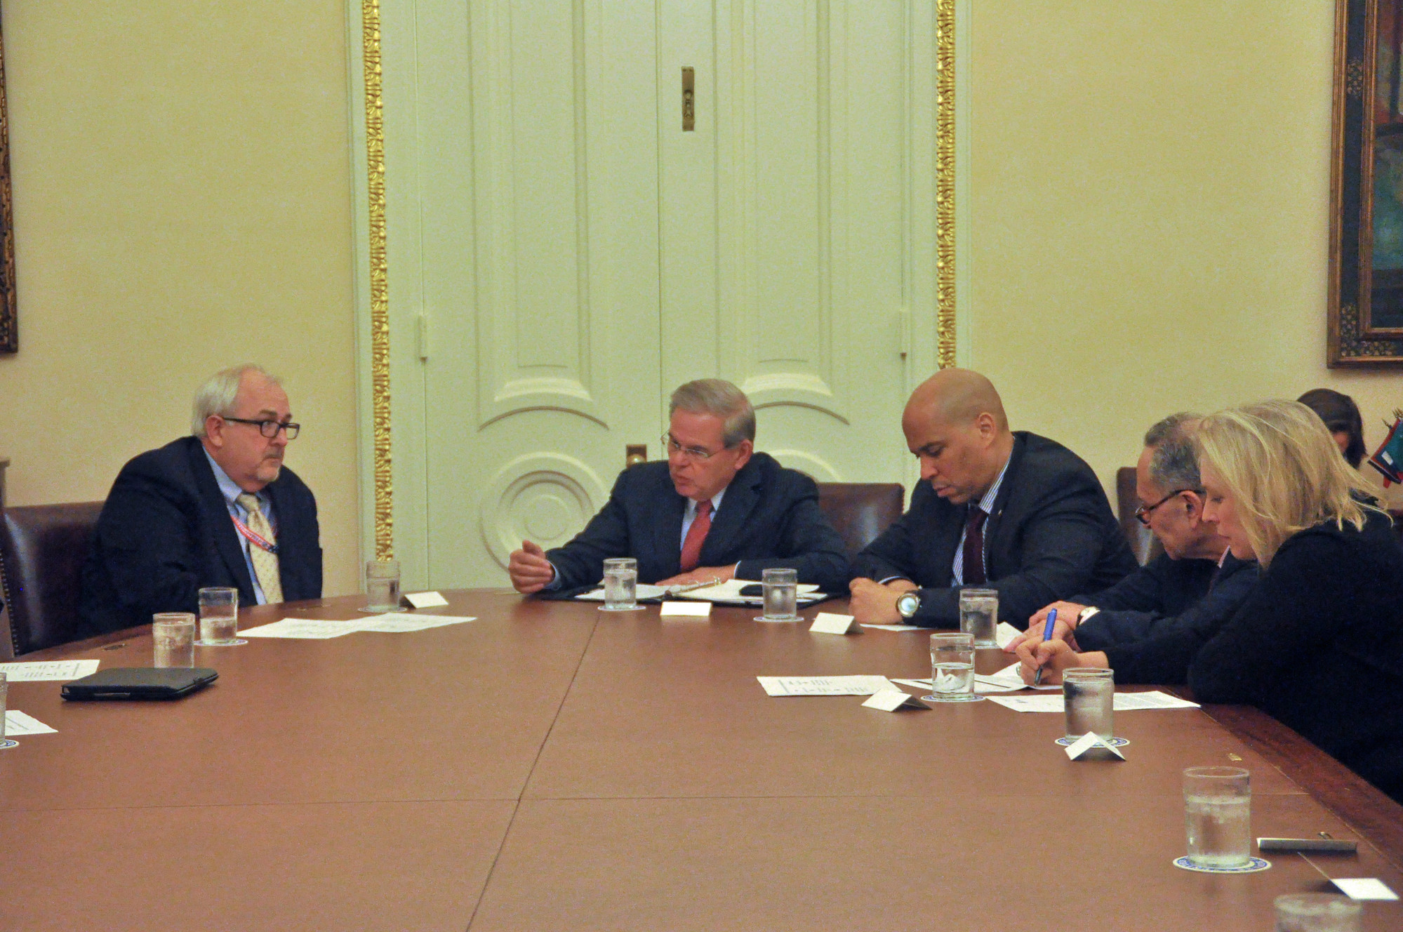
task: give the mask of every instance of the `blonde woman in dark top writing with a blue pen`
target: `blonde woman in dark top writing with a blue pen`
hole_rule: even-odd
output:
[[[1216,632],[1155,639],[1200,702],[1250,703],[1403,801],[1403,547],[1299,401],[1219,411],[1198,428],[1204,521],[1261,581]],[[1023,672],[1104,667],[1059,640]],[[1055,681],[1055,677],[1054,677]]]

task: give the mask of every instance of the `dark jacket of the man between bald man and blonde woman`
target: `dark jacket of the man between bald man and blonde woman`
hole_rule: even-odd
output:
[[[1187,627],[1208,640],[1257,587],[1257,561],[1239,560],[1229,553],[1221,570],[1212,560],[1169,560],[1167,556],[1160,556],[1125,577],[1111,591],[1132,581],[1143,584],[1136,595],[1149,590],[1145,577],[1155,575],[1152,570],[1162,560],[1170,566],[1163,567],[1166,571],[1157,578],[1160,608],[1106,608],[1076,627],[1078,647],[1083,651],[1106,651],[1107,661],[1115,671],[1115,682],[1184,682],[1188,678],[1187,658],[1177,655],[1177,651],[1159,650],[1159,639]],[[1212,571],[1204,573],[1201,566],[1173,564],[1207,564]],[[1201,585],[1197,584],[1200,578],[1204,580]],[[1197,599],[1193,598],[1195,590]],[[1100,608],[1103,601],[1114,605],[1131,599],[1127,592],[1121,592],[1120,598],[1103,599],[1097,595],[1089,602],[1072,601]]]

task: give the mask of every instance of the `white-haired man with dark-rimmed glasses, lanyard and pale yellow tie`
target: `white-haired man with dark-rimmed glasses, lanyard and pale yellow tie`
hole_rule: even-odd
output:
[[[108,493],[83,568],[86,633],[195,612],[210,585],[237,588],[241,605],[320,598],[317,501],[282,463],[297,431],[275,376],[210,376],[192,437],[130,460]]]

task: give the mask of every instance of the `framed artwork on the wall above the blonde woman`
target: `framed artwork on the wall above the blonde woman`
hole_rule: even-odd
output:
[[[1337,0],[1330,366],[1403,362],[1403,0]]]

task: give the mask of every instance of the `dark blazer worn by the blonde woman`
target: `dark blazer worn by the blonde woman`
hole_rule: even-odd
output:
[[[1389,535],[1301,531],[1212,639],[1160,647],[1193,658],[1198,702],[1254,705],[1403,803],[1403,549]]]

